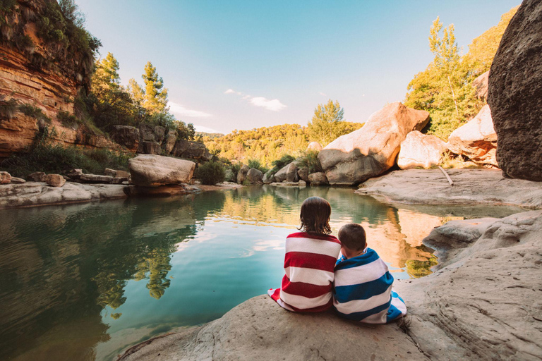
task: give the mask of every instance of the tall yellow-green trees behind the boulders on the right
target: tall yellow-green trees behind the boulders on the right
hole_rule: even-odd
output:
[[[433,22],[429,36],[433,61],[409,82],[404,101],[406,106],[429,111],[428,134],[447,140],[453,130],[474,117],[484,105],[483,99],[476,98],[472,81],[489,69],[502,33],[516,10],[513,8],[502,16],[497,27],[474,39],[464,56],[459,54],[454,25],[442,28],[439,18]]]

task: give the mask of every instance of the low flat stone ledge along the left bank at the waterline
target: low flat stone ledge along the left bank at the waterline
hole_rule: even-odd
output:
[[[26,182],[0,185],[0,208],[35,207],[112,200],[126,197],[125,185],[88,185],[68,182],[62,187]]]

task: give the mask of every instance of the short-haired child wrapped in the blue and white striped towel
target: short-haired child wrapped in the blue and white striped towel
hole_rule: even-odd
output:
[[[386,324],[406,314],[402,298],[392,291],[393,276],[378,254],[367,247],[359,224],[339,229],[342,257],[335,266],[333,305],[339,316],[367,324]]]

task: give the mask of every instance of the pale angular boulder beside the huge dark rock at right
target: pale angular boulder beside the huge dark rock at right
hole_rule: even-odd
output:
[[[497,133],[488,104],[478,115],[450,134],[447,147],[452,153],[469,157],[475,163],[498,166],[495,159]]]

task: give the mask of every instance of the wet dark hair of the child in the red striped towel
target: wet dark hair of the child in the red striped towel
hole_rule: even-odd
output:
[[[301,231],[328,235],[330,227],[331,206],[327,200],[321,197],[308,197],[301,204]]]

